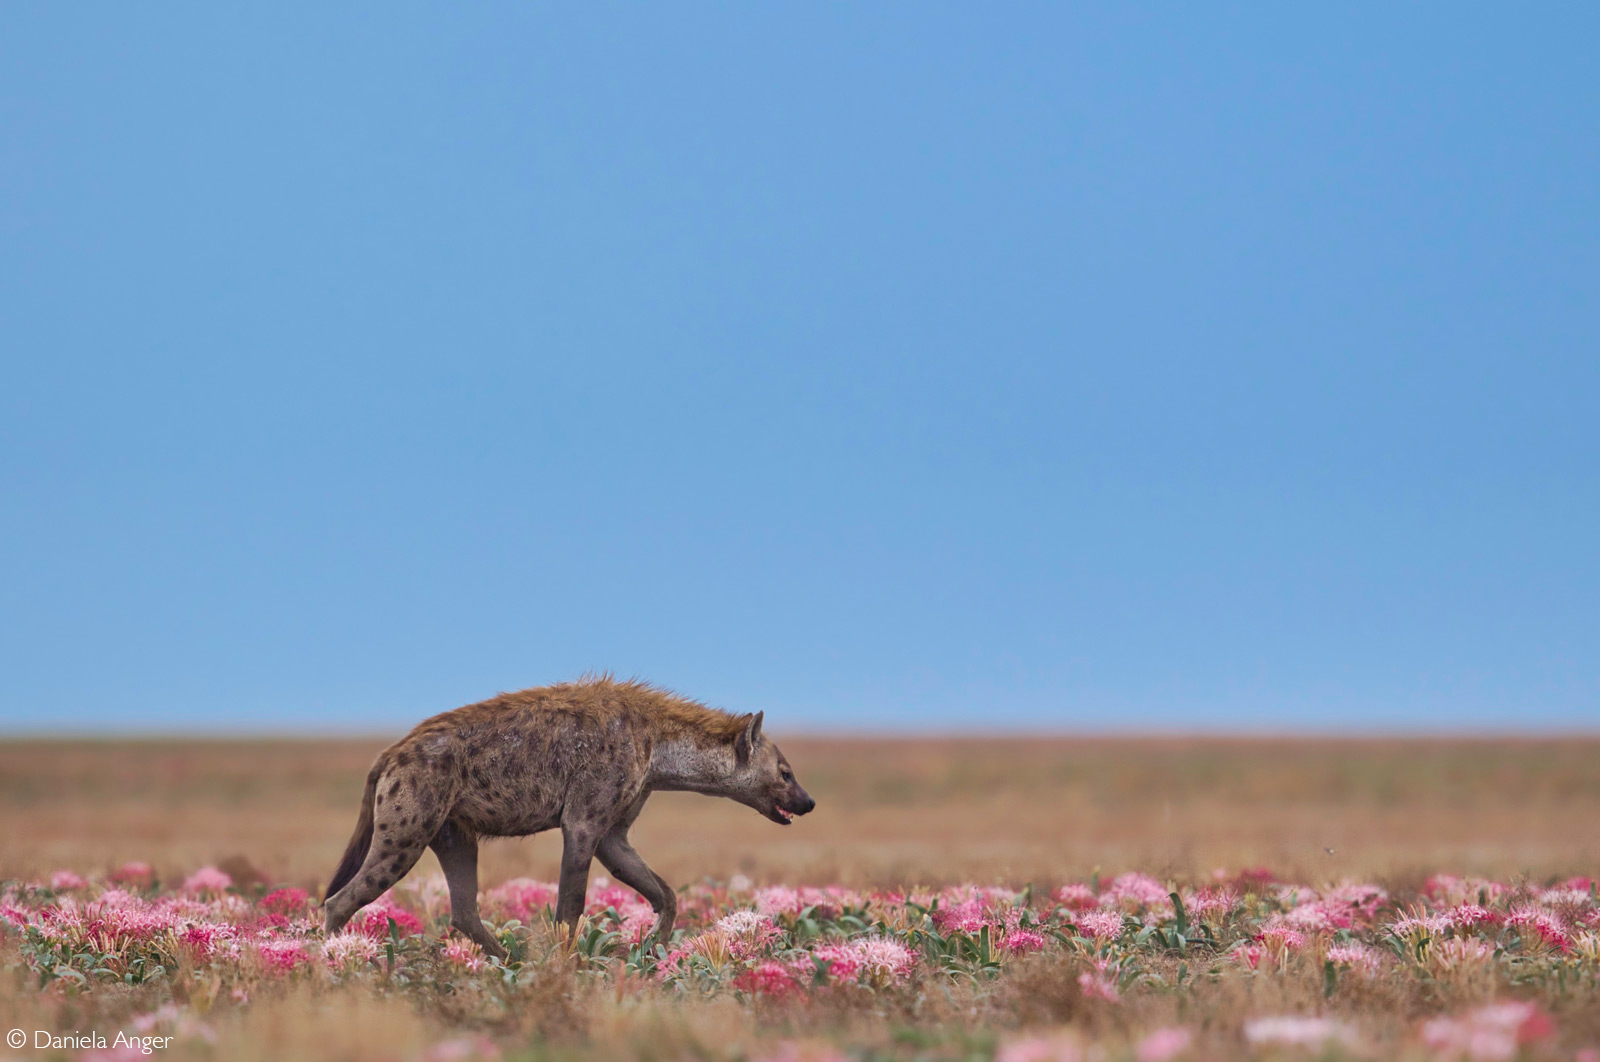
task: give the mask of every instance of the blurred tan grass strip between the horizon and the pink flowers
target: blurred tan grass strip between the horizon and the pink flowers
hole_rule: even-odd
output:
[[[0,878],[243,859],[312,889],[384,741],[0,744]],[[776,827],[662,793],[635,846],[670,881],[1053,884],[1267,865],[1309,881],[1549,876],[1600,864],[1600,739],[787,739],[818,811]],[[496,841],[483,884],[552,880],[557,835]],[[432,872],[432,856],[421,865]],[[413,872],[414,873],[414,872]]]

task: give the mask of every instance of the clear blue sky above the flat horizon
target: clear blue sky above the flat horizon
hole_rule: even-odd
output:
[[[0,729],[1600,713],[1592,5],[11,5]]]

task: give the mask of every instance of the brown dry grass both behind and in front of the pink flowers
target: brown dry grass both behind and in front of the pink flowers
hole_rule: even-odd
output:
[[[362,782],[387,741],[205,741],[0,744],[0,880],[125,860],[163,878],[202,864],[317,889],[355,822]],[[786,741],[819,809],[776,827],[746,808],[656,796],[638,849],[669,880],[746,873],[765,881],[850,884],[971,880],[1054,884],[1093,868],[1198,876],[1267,865],[1320,883],[1379,878],[1403,889],[1427,872],[1589,873],[1600,865],[1600,739],[1226,741],[947,739]],[[1330,851],[1331,849],[1331,851]],[[485,849],[485,884],[555,876],[555,835]],[[426,856],[421,873],[435,870]],[[418,872],[413,872],[418,873]],[[5,944],[13,948],[13,944]],[[491,1038],[507,1062],[533,1059],[746,1059],[779,1038],[854,1057],[987,1059],[1005,1036],[1070,1028],[1101,1057],[1131,1059],[1150,1028],[1184,1024],[1195,1062],[1240,1057],[1240,1027],[1259,1014],[1330,1014],[1360,1027],[1376,1057],[1424,1057],[1419,1022],[1507,985],[1469,979],[1347,980],[1325,998],[1322,971],[1246,977],[1232,966],[1184,992],[1086,1000],[1082,960],[1043,953],[978,984],[934,982],[808,1008],[640,992],[574,976],[562,963],[518,985],[494,979],[443,992],[338,987],[326,974],[259,984],[248,1003],[218,996],[200,971],[154,985],[40,992],[16,955],[0,990],[0,1027],[115,1030],[174,1001],[216,1041],[189,1038],[171,1059],[427,1060],[427,1044]],[[1176,963],[1176,960],[1173,960]],[[1174,971],[1162,971],[1171,976]],[[1594,992],[1546,995],[1562,1040],[1600,1041]],[[806,1057],[802,1046],[800,1057]],[[1334,1052],[1336,1054],[1336,1052]],[[1362,1054],[1362,1052],[1357,1052]],[[1366,1051],[1371,1056],[1371,1051]],[[51,1057],[24,1051],[18,1057]],[[1333,1056],[1330,1056],[1333,1057]],[[1555,1057],[1539,1054],[1538,1057]]]

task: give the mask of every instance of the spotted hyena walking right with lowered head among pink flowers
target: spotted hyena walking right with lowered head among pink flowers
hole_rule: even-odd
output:
[[[672,934],[677,897],[627,843],[656,790],[728,796],[787,825],[816,801],[762,734],[762,713],[730,715],[638,681],[582,680],[501,694],[435,715],[378,755],[355,836],[328,883],[338,932],[432,848],[450,884],[450,921],[485,952],[506,952],[478,920],[478,838],[562,828],[555,918],[578,924],[598,857],[650,900]]]

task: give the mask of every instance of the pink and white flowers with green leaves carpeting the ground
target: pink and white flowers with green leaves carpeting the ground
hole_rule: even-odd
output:
[[[1438,875],[1400,896],[1363,881],[1317,886],[1262,870],[1205,883],[1122,873],[1051,891],[987,884],[858,891],[842,886],[699,883],[678,892],[670,939],[629,888],[597,876],[576,934],[550,931],[557,886],[515,878],[485,891],[490,931],[510,953],[491,958],[450,928],[442,880],[408,881],[326,937],[315,899],[298,888],[240,888],[202,867],[162,888],[147,865],[106,875],[58,870],[0,883],[0,940],[37,982],[160,982],[181,969],[246,1001],[269,982],[448,984],[451,992],[550,961],[618,977],[634,992],[728,995],[754,1008],[808,1000],[874,1000],[982,984],[1014,964],[1059,963],[1074,1006],[1126,1012],[1141,992],[1174,992],[1182,977],[1270,979],[1309,974],[1326,998],[1341,985],[1430,980],[1461,1000],[1408,1033],[1418,1052],[1510,1059],[1552,1035],[1552,1019],[1518,1000],[1530,987],[1600,982],[1600,886],[1590,878],[1506,884]],[[541,950],[544,948],[544,950]],[[1192,982],[1190,982],[1192,984]],[[1118,1011],[1122,1008],[1122,1011]],[[150,1022],[173,1025],[173,1016]],[[187,1020],[187,1019],[186,1019]],[[149,1024],[149,1022],[147,1022]],[[181,1024],[181,1022],[179,1022]],[[1170,1027],[1126,1044],[1160,1062],[1189,1052],[1195,1032]],[[1326,1014],[1264,1014],[1235,1027],[1259,1051],[1366,1051],[1362,1032]],[[1021,1036],[997,1057],[1086,1057],[1074,1036]]]

